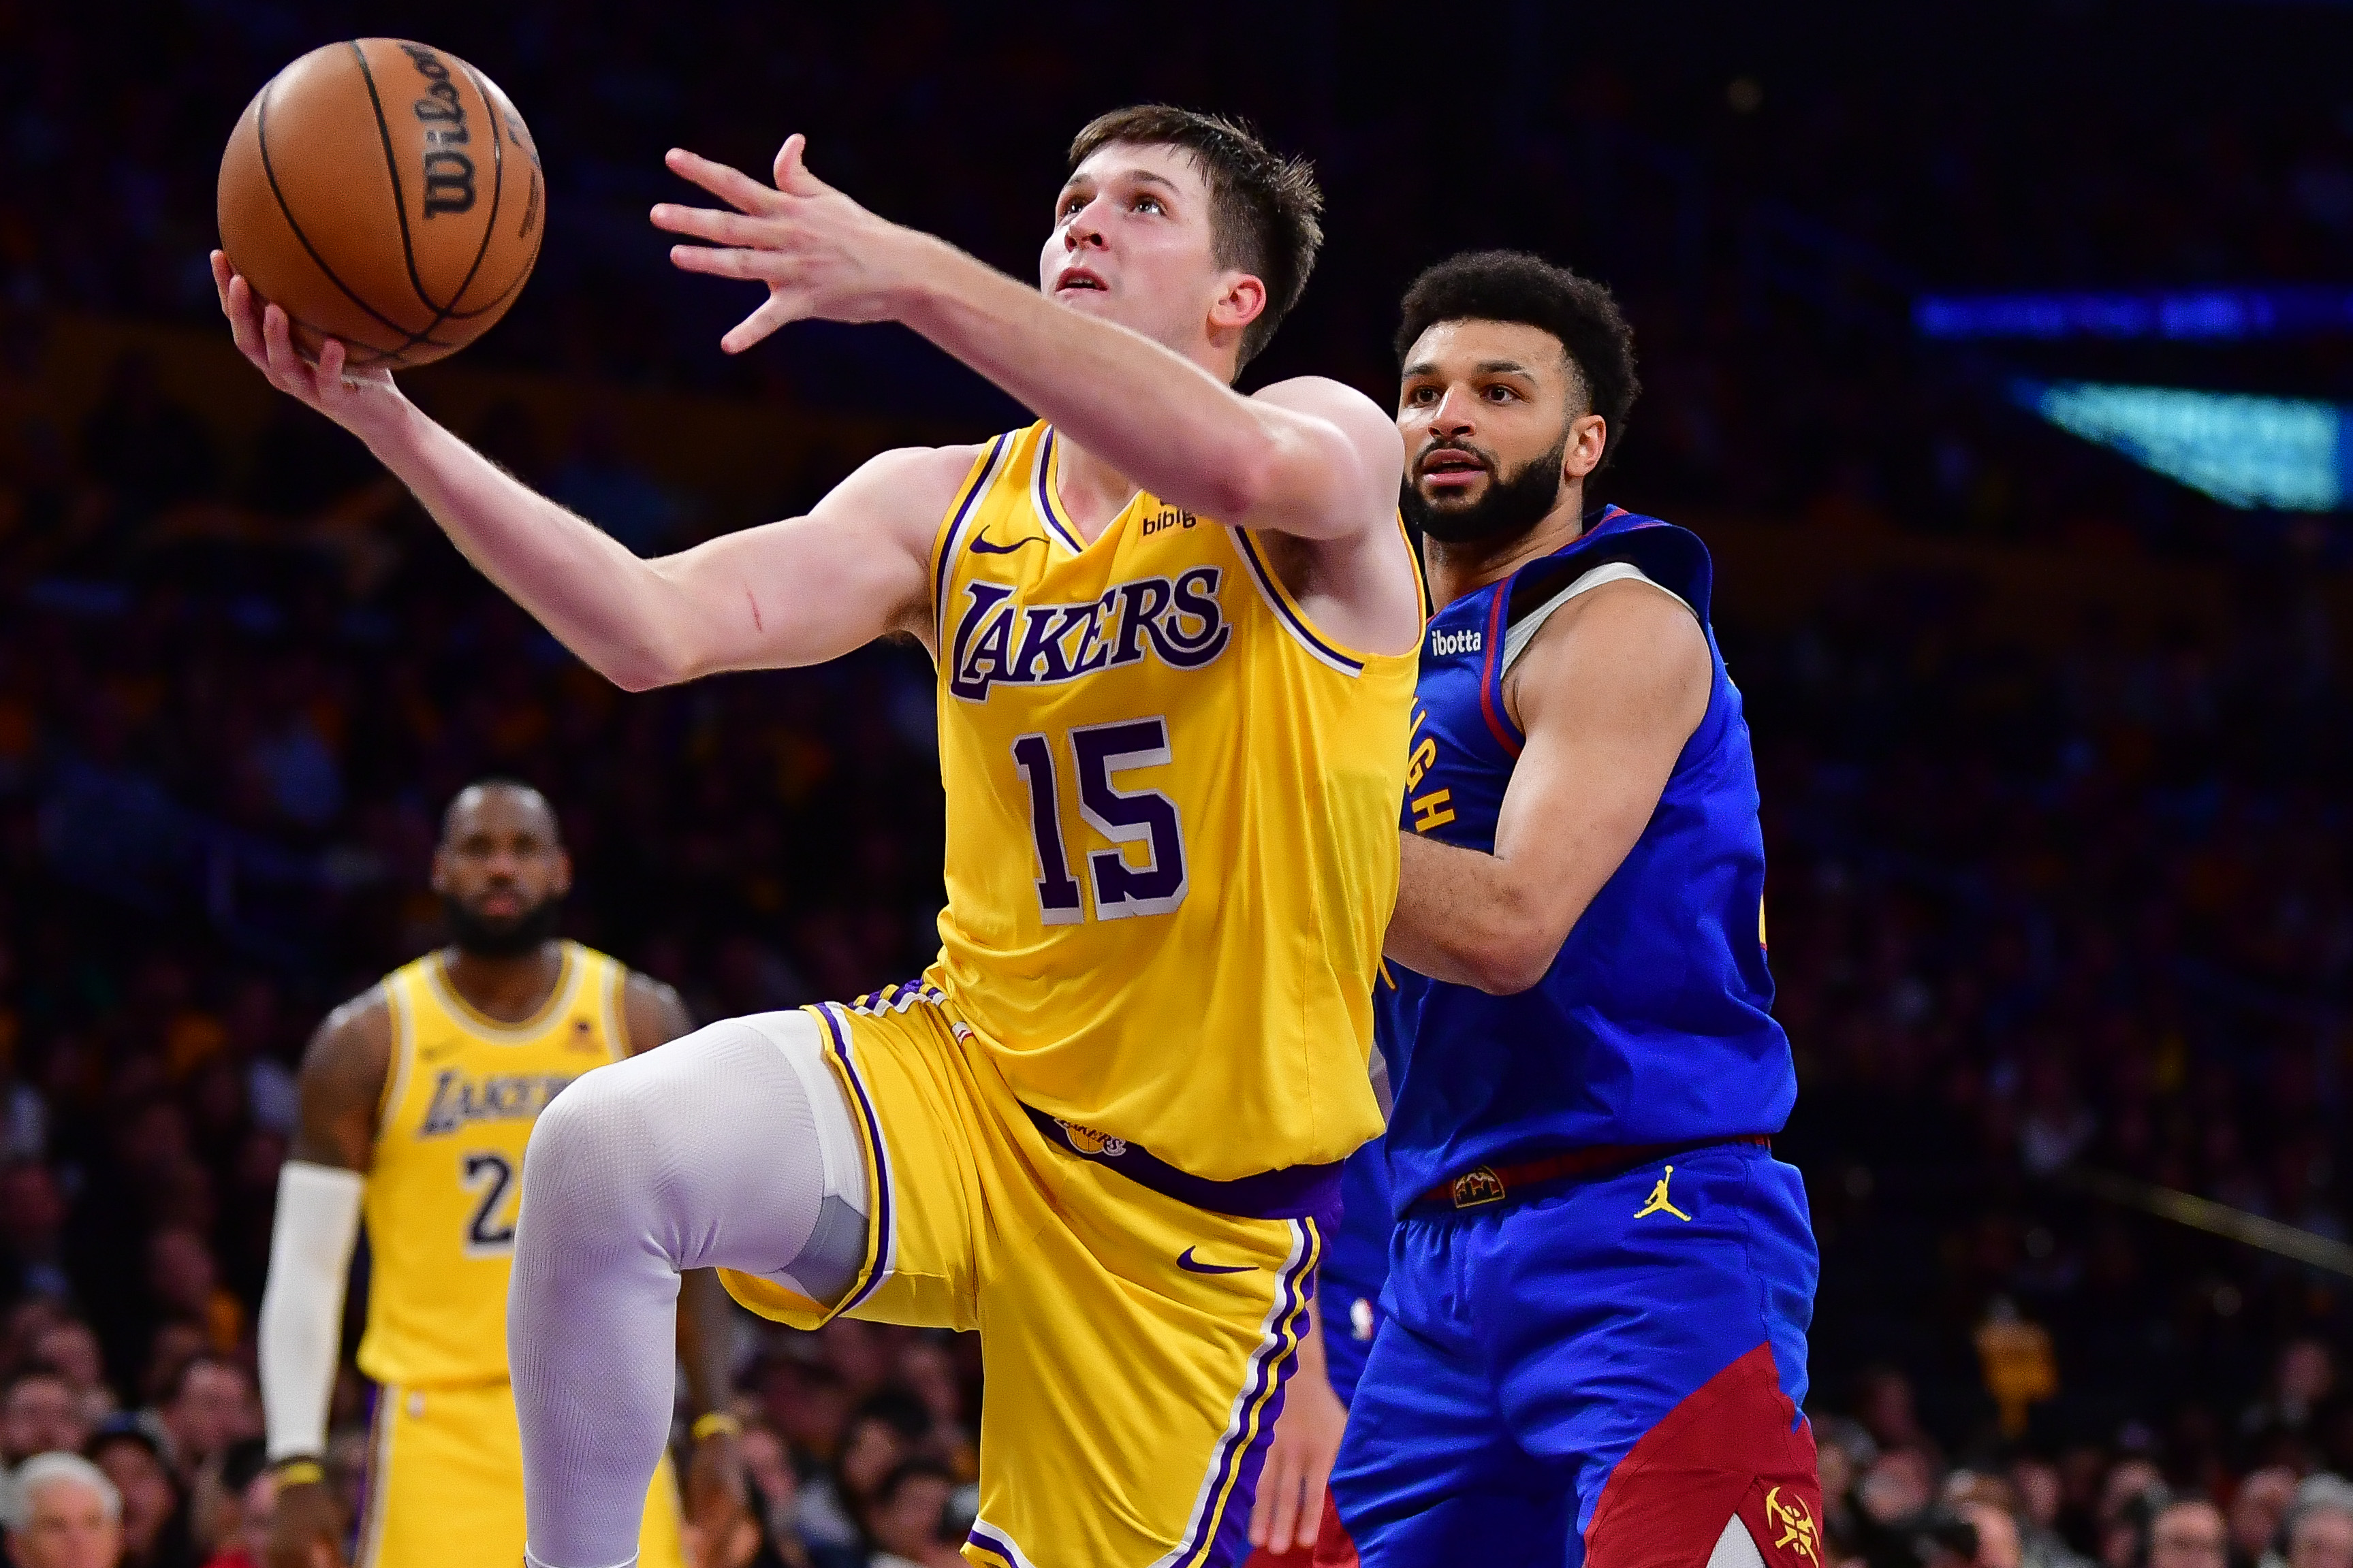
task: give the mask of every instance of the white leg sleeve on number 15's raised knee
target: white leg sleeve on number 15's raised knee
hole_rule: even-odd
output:
[[[628,1563],[671,1429],[678,1272],[838,1300],[866,1161],[807,1013],[729,1018],[565,1088],[522,1159],[506,1342],[529,1556]]]

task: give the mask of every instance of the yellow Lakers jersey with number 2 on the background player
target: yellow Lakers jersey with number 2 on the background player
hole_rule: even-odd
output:
[[[628,1053],[628,971],[565,943],[534,1018],[499,1023],[456,994],[438,952],[384,980],[393,1063],[367,1173],[367,1333],[376,1382],[506,1378],[506,1276],[522,1197],[522,1145],[572,1079]]]

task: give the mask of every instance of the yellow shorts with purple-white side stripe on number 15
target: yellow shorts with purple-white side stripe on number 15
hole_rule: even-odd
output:
[[[720,1269],[727,1288],[798,1328],[840,1312],[981,1333],[969,1563],[1240,1563],[1337,1166],[1329,1194],[1320,1173],[1193,1182],[1195,1199],[1249,1190],[1259,1213],[1306,1211],[1214,1213],[1125,1175],[1191,1180],[1144,1150],[1024,1107],[939,992],[809,1011],[866,1143],[866,1269],[833,1312]],[[1280,1182],[1294,1175],[1313,1180]]]

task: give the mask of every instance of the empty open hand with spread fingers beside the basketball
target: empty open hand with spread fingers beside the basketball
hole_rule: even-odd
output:
[[[711,244],[673,244],[671,261],[689,273],[767,284],[767,303],[720,339],[744,353],[786,322],[894,320],[927,247],[939,240],[859,207],[809,174],[807,136],[786,136],[776,153],[774,186],[741,169],[671,148],[671,172],[694,181],[734,212],[715,207],[654,207],[654,228]]]

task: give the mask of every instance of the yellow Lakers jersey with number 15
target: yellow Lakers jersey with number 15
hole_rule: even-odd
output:
[[[1381,1131],[1412,654],[1308,623],[1247,529],[998,437],[934,543],[948,907],[929,971],[1014,1093],[1209,1180]],[[1407,548],[1400,538],[1400,548]]]

